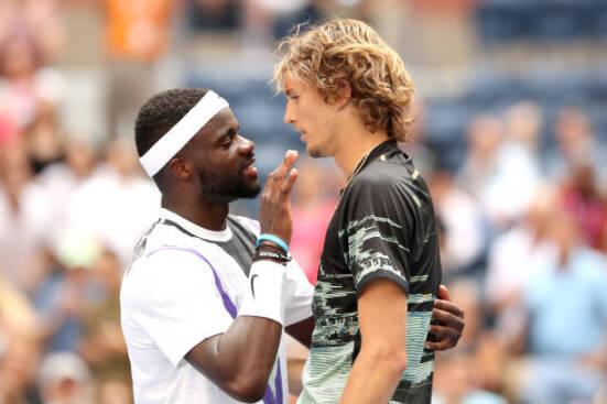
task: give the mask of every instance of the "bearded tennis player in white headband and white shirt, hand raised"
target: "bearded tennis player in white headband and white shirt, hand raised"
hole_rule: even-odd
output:
[[[162,193],[121,286],[136,403],[289,403],[283,331],[310,347],[314,327],[313,287],[289,254],[297,153],[268,177],[256,221],[229,215],[261,185],[254,145],[221,97],[160,92],[134,131]]]

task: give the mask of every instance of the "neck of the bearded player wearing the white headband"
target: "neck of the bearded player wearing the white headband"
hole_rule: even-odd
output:
[[[163,195],[161,205],[181,217],[208,230],[220,231],[226,228],[229,214],[228,201],[213,203],[199,198],[183,198],[174,200]]]

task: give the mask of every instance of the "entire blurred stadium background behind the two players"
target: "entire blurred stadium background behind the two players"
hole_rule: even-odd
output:
[[[607,403],[607,1],[0,0],[0,404],[132,402],[119,287],[160,201],[139,107],[216,90],[264,178],[304,151],[272,50],[333,15],[375,26],[416,85],[403,149],[466,312],[433,402]],[[297,164],[292,251],[314,283],[344,178]]]

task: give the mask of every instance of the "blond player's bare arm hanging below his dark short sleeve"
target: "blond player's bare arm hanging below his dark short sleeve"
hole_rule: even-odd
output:
[[[407,295],[391,281],[372,281],[358,315],[362,345],[340,403],[388,403],[407,368]]]

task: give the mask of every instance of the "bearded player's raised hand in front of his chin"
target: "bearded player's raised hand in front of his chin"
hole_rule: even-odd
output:
[[[293,232],[290,196],[297,178],[297,170],[293,168],[296,161],[297,152],[288,151],[282,164],[268,176],[259,208],[261,233],[274,234],[288,244]]]

